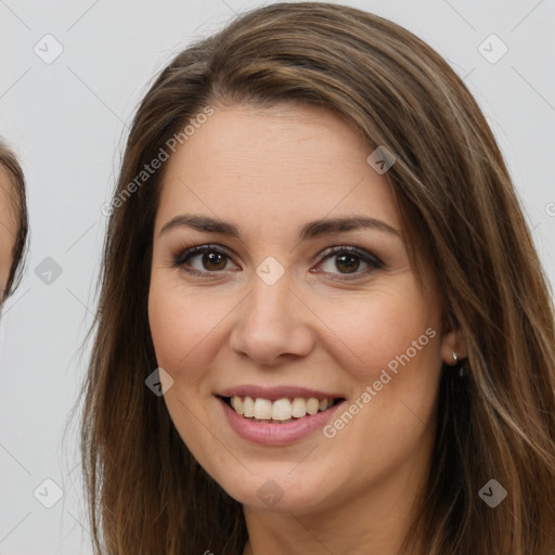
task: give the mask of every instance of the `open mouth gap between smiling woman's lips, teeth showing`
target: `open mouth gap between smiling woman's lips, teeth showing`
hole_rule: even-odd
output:
[[[330,411],[345,401],[343,397],[283,397],[275,400],[249,396],[217,397],[245,421],[278,425]]]

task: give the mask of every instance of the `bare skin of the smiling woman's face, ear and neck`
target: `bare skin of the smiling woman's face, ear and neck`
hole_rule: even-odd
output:
[[[152,337],[173,379],[165,401],[181,438],[244,506],[245,554],[396,554],[429,469],[442,361],[465,354],[456,333],[441,332],[435,276],[426,270],[424,291],[416,282],[392,193],[366,163],[370,153],[319,108],[231,106],[167,163]],[[230,221],[241,240],[186,225],[160,233],[185,212]],[[299,242],[306,222],[352,215],[399,235],[363,229]],[[229,257],[206,266],[194,254],[173,266],[185,247],[207,244]],[[324,253],[336,245],[358,246],[384,266],[356,258],[349,273],[352,260],[341,266],[341,254]],[[272,286],[256,273],[269,256],[285,270]],[[320,429],[287,446],[251,443],[215,397],[240,384],[294,385],[339,392],[349,405],[430,327],[435,337],[332,439]],[[283,491],[271,508],[257,494],[268,480]]]

